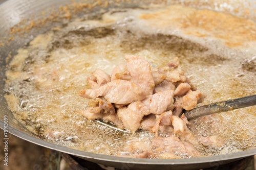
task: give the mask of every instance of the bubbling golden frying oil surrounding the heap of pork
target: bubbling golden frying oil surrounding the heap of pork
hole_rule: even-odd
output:
[[[155,25],[148,17],[178,9],[180,13],[172,13],[175,22],[162,17],[161,24]],[[45,140],[116,155],[125,152],[127,142],[150,143],[154,135],[122,133],[74,110],[88,105],[89,100],[81,98],[78,91],[89,88],[90,72],[102,69],[111,74],[115,65],[125,62],[125,54],[141,55],[158,66],[179,57],[185,74],[207,93],[203,104],[254,94],[255,72],[242,68],[244,60],[252,57],[252,49],[230,47],[210,31],[205,37],[188,34],[189,28],[179,24],[191,15],[187,11],[181,6],[113,10],[99,14],[102,19],[78,19],[36,37],[18,51],[6,72],[5,96],[10,110]],[[197,138],[216,135],[223,143],[198,147],[205,156],[239,152],[255,148],[255,120],[254,106],[193,120],[191,131]]]

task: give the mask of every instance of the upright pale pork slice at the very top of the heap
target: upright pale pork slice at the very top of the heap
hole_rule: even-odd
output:
[[[132,76],[132,82],[138,85],[144,96],[153,94],[155,87],[150,64],[141,56],[126,55],[127,69]]]

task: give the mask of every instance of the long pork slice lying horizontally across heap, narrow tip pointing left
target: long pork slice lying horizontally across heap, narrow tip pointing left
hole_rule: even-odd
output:
[[[98,89],[82,89],[79,95],[88,99],[103,96],[108,102],[115,104],[129,104],[145,99],[141,89],[127,80],[113,80]]]

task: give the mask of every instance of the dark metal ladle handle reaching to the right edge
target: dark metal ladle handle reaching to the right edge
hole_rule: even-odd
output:
[[[253,105],[256,105],[256,94],[245,96],[243,98],[231,99],[228,101],[200,106],[195,109],[186,111],[185,116],[188,120],[191,120],[209,114],[226,112],[229,110],[240,109]]]

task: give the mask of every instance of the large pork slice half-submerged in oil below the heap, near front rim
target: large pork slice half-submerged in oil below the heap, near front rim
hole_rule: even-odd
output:
[[[186,157],[199,157],[201,155],[193,144],[183,142],[175,136],[156,137],[153,139],[152,145],[158,153],[167,151],[175,155],[184,155]]]

